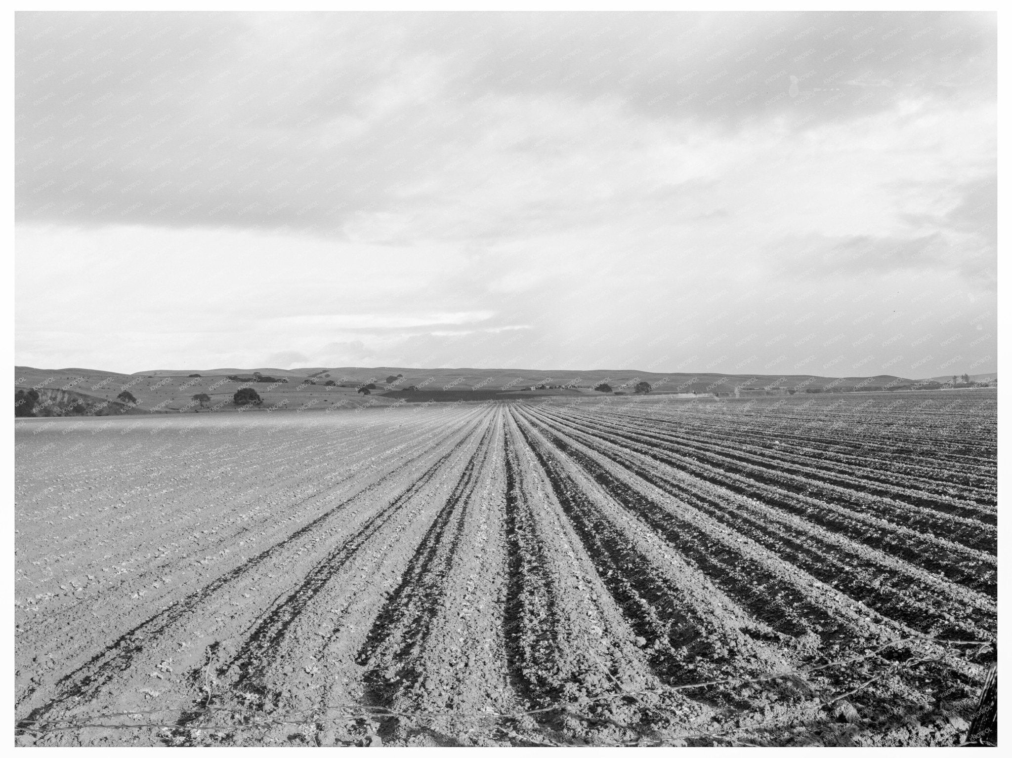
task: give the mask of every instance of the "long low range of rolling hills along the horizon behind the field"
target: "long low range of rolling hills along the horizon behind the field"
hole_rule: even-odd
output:
[[[631,395],[639,382],[648,382],[655,395],[720,395],[722,397],[753,397],[809,392],[855,392],[906,389],[939,389],[951,376],[938,382],[915,381],[889,374],[861,377],[825,377],[811,374],[661,374],[632,369],[590,369],[588,371],[529,369],[418,369],[410,367],[338,366],[333,368],[299,369],[158,369],[155,371],[120,374],[97,369],[36,369],[14,367],[15,390],[34,388],[53,399],[55,412],[71,412],[82,405],[91,414],[101,407],[115,412],[117,397],[129,391],[138,400],[130,412],[219,412],[236,411],[235,392],[254,371],[265,377],[285,379],[252,384],[263,402],[263,410],[320,411],[354,408],[362,405],[390,405],[396,402],[446,402],[456,400],[523,400],[545,395],[588,395],[601,397],[594,391],[601,383],[612,392]],[[193,376],[199,374],[200,376]],[[398,377],[390,384],[388,377]],[[240,381],[229,379],[240,377]],[[995,374],[973,377],[994,378]],[[245,379],[244,379],[245,378]],[[310,383],[312,382],[312,383]],[[333,382],[328,386],[327,382]],[[365,384],[374,384],[368,395],[358,392]],[[50,395],[50,393],[56,393]],[[69,394],[68,394],[69,393]],[[210,397],[203,405],[193,395]],[[64,406],[66,406],[65,409]]]

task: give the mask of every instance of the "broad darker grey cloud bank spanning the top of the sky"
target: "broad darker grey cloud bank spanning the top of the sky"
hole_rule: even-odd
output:
[[[737,130],[993,97],[993,76],[933,86],[989,70],[992,17],[935,18],[22,12],[17,217],[403,238],[462,154],[576,168],[574,138],[621,135],[613,114]],[[792,100],[790,76],[819,97]]]

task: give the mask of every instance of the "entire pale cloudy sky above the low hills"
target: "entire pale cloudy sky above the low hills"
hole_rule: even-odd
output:
[[[19,365],[996,370],[973,13],[19,13]]]

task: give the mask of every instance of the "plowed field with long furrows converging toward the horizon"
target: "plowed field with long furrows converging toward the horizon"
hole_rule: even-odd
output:
[[[32,419],[36,745],[951,745],[994,392]]]

